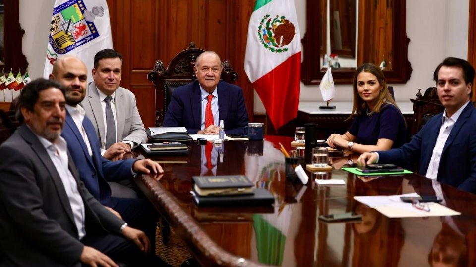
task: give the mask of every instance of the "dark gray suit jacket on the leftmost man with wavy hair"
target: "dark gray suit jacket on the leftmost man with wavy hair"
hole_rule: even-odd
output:
[[[0,266],[80,266],[84,245],[60,175],[38,137],[22,125],[0,146],[0,155]],[[119,233],[124,222],[94,199],[68,158],[86,231]]]

